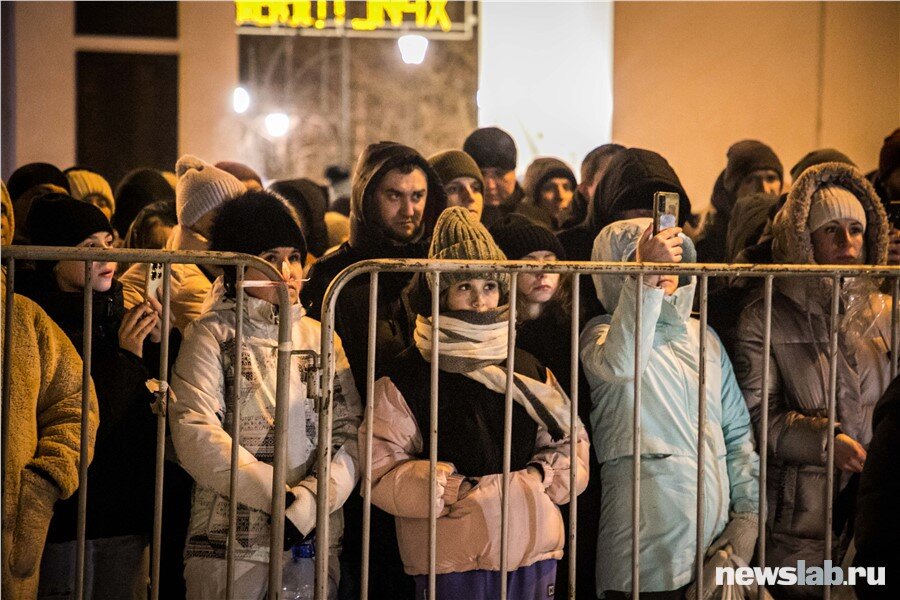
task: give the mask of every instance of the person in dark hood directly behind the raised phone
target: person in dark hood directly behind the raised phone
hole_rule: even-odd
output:
[[[678,226],[691,214],[691,201],[678,175],[665,158],[643,148],[626,148],[617,152],[594,191],[588,215],[577,228],[557,237],[569,260],[590,260],[594,238],[614,221],[653,216],[653,194],[677,192]],[[585,320],[601,314],[591,277],[581,278],[581,317]]]

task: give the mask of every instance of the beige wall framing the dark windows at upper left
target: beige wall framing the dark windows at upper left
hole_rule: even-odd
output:
[[[238,80],[238,47],[232,3],[180,3],[177,40],[76,37],[72,2],[18,2],[15,9],[16,165],[75,164],[78,50],[178,54],[179,154],[221,160],[236,145],[231,91]]]

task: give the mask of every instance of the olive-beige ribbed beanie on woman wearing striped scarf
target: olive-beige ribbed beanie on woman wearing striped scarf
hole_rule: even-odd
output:
[[[437,260],[506,260],[506,255],[494,243],[494,238],[484,228],[484,225],[472,219],[468,210],[461,206],[453,206],[441,213],[434,226],[428,258]],[[473,278],[493,279],[500,284],[501,294],[509,291],[508,274],[496,272],[476,274],[472,271],[442,273],[441,291],[449,288],[452,283]],[[434,274],[428,273],[427,279],[431,285],[434,282]]]

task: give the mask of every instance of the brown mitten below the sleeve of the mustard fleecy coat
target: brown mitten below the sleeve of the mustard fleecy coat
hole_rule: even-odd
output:
[[[53,504],[58,498],[59,490],[55,484],[30,469],[22,470],[13,548],[9,559],[10,572],[14,576],[28,578],[34,574],[47,541]]]

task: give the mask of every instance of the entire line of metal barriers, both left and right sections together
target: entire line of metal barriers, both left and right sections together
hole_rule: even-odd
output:
[[[241,348],[241,329],[242,329],[242,303],[243,303],[243,282],[244,270],[253,267],[265,275],[273,282],[277,283],[278,299],[280,313],[283,316],[290,315],[289,296],[287,287],[281,279],[281,275],[277,269],[273,268],[269,263],[257,257],[236,254],[236,253],[218,253],[218,252],[171,252],[164,250],[106,250],[106,249],[80,249],[80,248],[48,248],[48,247],[3,247],[3,260],[7,266],[7,295],[5,298],[6,312],[4,314],[4,329],[9,331],[9,326],[13,311],[13,293],[15,284],[16,261],[17,260],[76,260],[85,262],[86,281],[90,280],[92,261],[128,261],[132,263],[151,263],[157,262],[164,265],[164,285],[163,285],[163,339],[161,342],[161,361],[160,361],[160,381],[162,382],[160,405],[162,410],[157,414],[157,440],[156,440],[156,481],[154,493],[154,522],[153,522],[153,553],[151,557],[151,597],[157,600],[159,597],[159,578],[160,578],[160,536],[162,528],[162,492],[163,492],[163,456],[164,456],[164,438],[165,438],[165,401],[168,398],[168,323],[170,319],[170,302],[171,302],[171,265],[172,264],[194,264],[194,265],[231,265],[237,267],[238,289],[241,293],[237,294],[237,323],[236,323],[236,339],[235,339],[235,360],[236,364],[240,364],[240,348]],[[370,542],[370,524],[371,524],[371,485],[372,485],[372,423],[373,423],[373,394],[374,394],[374,376],[375,376],[375,349],[376,349],[376,309],[378,298],[378,275],[381,272],[429,272],[434,273],[435,278],[432,283],[432,313],[434,319],[432,321],[432,346],[431,357],[431,439],[429,447],[430,461],[430,482],[431,482],[431,506],[429,515],[429,593],[433,599],[435,596],[435,577],[436,577],[436,547],[437,540],[435,536],[437,514],[436,507],[436,464],[437,464],[437,399],[438,399],[438,351],[439,343],[437,329],[440,320],[440,311],[438,306],[439,279],[442,273],[453,272],[472,272],[479,273],[485,271],[509,273],[510,282],[510,324],[515,324],[515,294],[516,282],[519,273],[523,272],[548,272],[569,274],[572,276],[572,319],[570,338],[572,343],[572,354],[570,356],[570,365],[572,371],[570,396],[573,400],[570,407],[571,429],[570,435],[570,452],[573,457],[576,456],[576,444],[578,438],[578,419],[577,402],[578,397],[578,339],[579,339],[579,322],[578,322],[578,299],[580,288],[580,276],[591,274],[630,274],[637,278],[640,285],[645,275],[653,275],[659,273],[676,273],[679,275],[691,275],[700,278],[699,285],[699,302],[700,302],[700,381],[699,381],[699,402],[700,409],[698,412],[699,439],[698,448],[700,456],[698,457],[698,504],[697,504],[697,588],[698,597],[703,595],[703,579],[702,563],[703,563],[703,522],[705,515],[703,512],[703,446],[704,446],[704,429],[706,423],[705,414],[705,352],[707,340],[707,301],[708,301],[708,279],[710,277],[723,276],[741,276],[756,277],[764,279],[763,297],[764,297],[764,331],[763,331],[763,367],[762,367],[762,410],[761,410],[761,427],[760,437],[758,440],[758,448],[760,452],[760,498],[759,498],[759,541],[758,541],[758,557],[760,564],[765,564],[765,522],[766,522],[766,503],[765,503],[765,485],[766,485],[766,468],[767,468],[767,424],[768,424],[768,380],[770,376],[770,348],[771,348],[771,312],[772,312],[772,295],[773,280],[775,277],[830,277],[834,284],[832,287],[832,302],[830,313],[831,324],[831,343],[829,348],[830,360],[830,378],[828,390],[828,414],[829,428],[833,433],[835,426],[835,401],[836,401],[836,373],[837,373],[837,329],[835,324],[838,319],[839,309],[839,280],[845,277],[877,277],[892,279],[892,308],[891,308],[891,377],[895,377],[898,370],[898,350],[900,350],[900,309],[898,309],[898,298],[900,298],[900,268],[898,267],[834,267],[834,266],[797,266],[797,265],[672,265],[672,264],[638,264],[638,263],[583,263],[583,262],[526,262],[526,261],[430,261],[430,260],[369,260],[353,265],[341,272],[332,281],[329,286],[323,302],[323,320],[322,320],[322,348],[320,360],[321,364],[321,396],[319,398],[319,440],[318,440],[318,493],[317,496],[317,548],[316,548],[316,598],[323,600],[328,597],[328,543],[329,543],[329,527],[330,522],[328,516],[328,498],[329,498],[329,469],[331,463],[331,430],[333,418],[333,394],[334,394],[334,376],[335,376],[335,349],[334,349],[334,331],[335,331],[335,306],[338,295],[346,284],[355,277],[370,274],[369,281],[369,321],[368,321],[368,354],[366,365],[366,440],[365,447],[362,452],[366,457],[366,469],[362,478],[362,489],[364,495],[363,504],[363,547],[362,547],[362,573],[361,573],[361,592],[362,598],[368,597],[369,587],[369,542]],[[639,288],[640,289],[640,288]],[[87,390],[90,382],[90,360],[91,360],[91,287],[85,286],[84,293],[84,325],[85,340],[83,347],[84,371],[83,371],[83,393],[82,393],[82,431],[87,427]],[[640,315],[642,311],[641,295],[637,295],[634,310],[636,312],[636,328],[635,328],[635,372],[639,370],[641,332],[640,332]],[[284,536],[284,502],[285,494],[285,450],[286,450],[286,429],[288,426],[288,402],[289,398],[289,369],[291,355],[291,322],[290,318],[281,318],[279,320],[279,346],[278,346],[278,363],[277,363],[277,382],[276,382],[276,417],[275,417],[275,455],[274,455],[274,477],[273,477],[273,495],[272,495],[272,529],[271,529],[271,545],[270,556],[281,556]],[[512,353],[515,347],[515,327],[511,326],[508,339],[508,356],[510,367],[512,367]],[[10,336],[4,338],[3,348],[3,413],[2,413],[2,456],[4,459],[6,454],[6,443],[8,439],[8,410],[9,406],[9,359],[12,351],[10,344]],[[512,368],[508,370],[512,373]],[[239,380],[236,378],[234,394],[239,393]],[[640,378],[634,381],[634,423],[633,423],[633,452],[636,456],[640,455],[640,439],[641,439],[641,386]],[[235,396],[236,400],[237,396]],[[509,539],[509,504],[508,490],[510,478],[510,434],[512,419],[512,378],[508,376],[506,382],[505,407],[504,407],[504,456],[503,456],[503,481],[502,496],[503,505],[501,513],[501,571],[508,572],[508,539]],[[234,402],[235,410],[239,411],[238,403]],[[234,415],[233,428],[230,434],[233,439],[237,440],[240,436],[240,415]],[[833,465],[834,465],[834,445],[833,435],[828,436],[827,445],[827,465],[828,465],[828,486],[826,499],[829,510],[824,515],[825,519],[825,559],[828,560],[831,555],[831,513],[830,507],[832,502],[833,490]],[[232,445],[231,460],[231,480],[230,486],[232,493],[229,500],[229,529],[227,543],[227,598],[234,596],[234,551],[236,547],[236,516],[237,516],[237,500],[233,490],[237,485],[237,451],[238,444]],[[78,510],[78,540],[77,540],[77,597],[82,597],[84,585],[84,547],[85,547],[85,510],[87,499],[87,448],[82,444],[81,463],[80,463],[80,482],[79,486],[79,510]],[[577,495],[573,492],[577,477],[577,461],[575,461],[569,473],[570,483],[570,519],[568,531],[568,553],[569,553],[569,597],[574,598],[576,587],[576,540],[577,540]],[[633,467],[633,488],[632,488],[632,592],[635,598],[639,597],[640,582],[640,564],[638,561],[640,536],[639,536],[639,519],[640,519],[640,461],[634,461]],[[281,563],[280,561],[270,560],[269,564],[269,582],[268,597],[279,598],[281,595]],[[506,577],[501,577],[501,596],[506,598]],[[760,594],[762,594],[760,587]],[[829,588],[826,588],[825,595],[828,598]],[[760,596],[761,597],[761,596]]]

